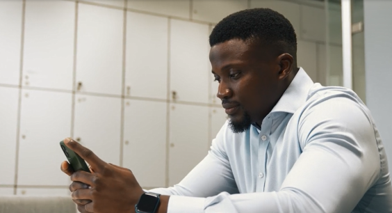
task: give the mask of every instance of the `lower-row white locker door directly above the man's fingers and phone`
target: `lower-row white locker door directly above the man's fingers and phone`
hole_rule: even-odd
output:
[[[120,164],[120,129],[119,97],[76,95],[74,139],[107,163]]]

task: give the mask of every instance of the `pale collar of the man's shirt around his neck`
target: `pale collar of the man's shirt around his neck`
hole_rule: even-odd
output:
[[[300,68],[291,84],[288,86],[286,91],[281,95],[279,101],[272,108],[270,113],[274,112],[286,112],[295,113],[302,104],[307,101],[307,96],[310,88],[313,86],[313,81],[305,72],[304,69]]]

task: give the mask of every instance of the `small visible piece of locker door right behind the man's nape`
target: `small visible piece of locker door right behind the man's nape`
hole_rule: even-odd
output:
[[[316,42],[297,42],[297,65],[302,67],[313,82],[318,82]]]

